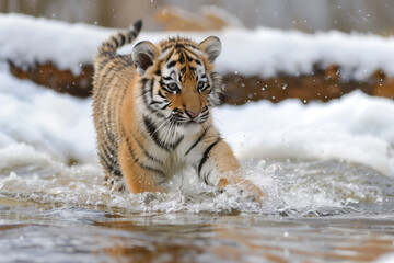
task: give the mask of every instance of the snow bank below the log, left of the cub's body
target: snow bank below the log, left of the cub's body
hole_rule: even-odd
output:
[[[60,95],[4,71],[0,69],[0,148],[27,144],[65,162],[94,162],[91,102]],[[21,146],[18,149],[22,149],[18,151],[22,160],[27,152]]]

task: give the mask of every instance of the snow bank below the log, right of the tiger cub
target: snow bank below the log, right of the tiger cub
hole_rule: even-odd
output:
[[[394,103],[389,99],[354,91],[326,104],[288,99],[215,113],[241,159],[343,159],[394,176]]]

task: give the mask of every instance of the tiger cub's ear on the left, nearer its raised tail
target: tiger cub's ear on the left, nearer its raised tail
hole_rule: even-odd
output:
[[[142,76],[144,71],[153,65],[158,54],[158,48],[150,42],[140,42],[132,48],[132,61],[135,62],[137,72],[140,76]]]

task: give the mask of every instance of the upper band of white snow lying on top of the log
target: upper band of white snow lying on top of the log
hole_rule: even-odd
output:
[[[115,31],[20,14],[0,14],[0,59],[12,59],[18,66],[51,60],[60,69],[70,68],[78,73],[79,65],[91,62],[97,45]],[[364,80],[378,69],[394,75],[393,37],[228,28],[209,33],[142,32],[138,41],[158,42],[175,34],[196,41],[209,35],[219,36],[223,44],[217,60],[220,73],[237,72],[267,78],[278,72],[311,73],[314,64],[335,64],[340,66],[343,78]]]

